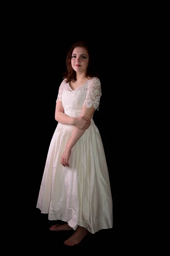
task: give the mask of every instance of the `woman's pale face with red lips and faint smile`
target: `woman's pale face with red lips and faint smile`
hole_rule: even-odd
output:
[[[88,52],[85,48],[74,48],[71,56],[71,66],[76,72],[85,72],[88,67],[88,60]]]

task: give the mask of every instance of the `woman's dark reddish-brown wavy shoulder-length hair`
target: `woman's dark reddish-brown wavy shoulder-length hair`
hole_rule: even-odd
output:
[[[88,46],[87,42],[79,41],[74,43],[71,46],[71,49],[67,52],[67,57],[66,57],[67,71],[64,73],[64,76],[63,76],[63,79],[66,79],[65,81],[66,83],[69,83],[71,80],[76,81],[76,71],[71,66],[72,53],[74,48],[76,47],[83,47],[88,52],[89,61],[88,61],[88,67],[87,67],[85,76],[87,78],[92,78],[94,76],[98,77],[98,74],[95,71],[94,56],[93,56],[93,53],[91,52],[91,48]]]

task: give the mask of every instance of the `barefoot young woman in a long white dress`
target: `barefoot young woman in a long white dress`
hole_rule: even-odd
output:
[[[91,56],[83,42],[68,52],[67,72],[56,101],[57,128],[51,140],[37,208],[65,224],[51,231],[75,230],[64,243],[78,244],[87,232],[113,227],[112,197],[99,130],[93,115],[102,95]]]

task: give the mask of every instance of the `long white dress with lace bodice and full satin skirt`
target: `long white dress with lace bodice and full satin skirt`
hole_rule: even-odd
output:
[[[80,116],[85,104],[87,108],[99,108],[102,93],[98,78],[88,80],[75,90],[65,80],[60,84],[57,100],[62,101],[68,116]],[[113,227],[105,152],[92,117],[90,127],[72,148],[70,167],[62,166],[61,157],[73,130],[73,125],[57,124],[48,150],[37,208],[48,213],[49,220],[66,221],[74,230],[79,225],[96,233]]]

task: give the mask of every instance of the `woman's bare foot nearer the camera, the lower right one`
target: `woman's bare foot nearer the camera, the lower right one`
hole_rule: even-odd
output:
[[[75,244],[79,244],[82,239],[87,235],[88,231],[85,229],[85,227],[77,227],[77,230],[75,233],[67,239],[64,244],[73,246]]]

